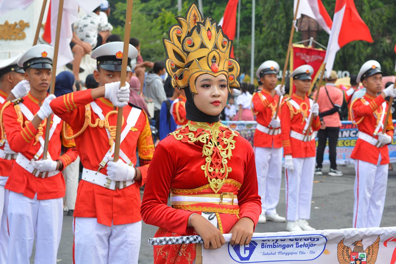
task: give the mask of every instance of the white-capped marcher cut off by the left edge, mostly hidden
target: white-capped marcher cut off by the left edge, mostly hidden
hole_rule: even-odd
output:
[[[6,99],[15,85],[21,82],[19,86],[25,86],[27,83],[27,81],[22,82],[25,71],[17,65],[21,55],[11,57],[0,63],[0,107],[3,107],[6,103]],[[8,190],[4,189],[4,186],[16,157],[17,153],[10,149],[8,142],[6,140],[0,141],[0,263],[7,262],[8,252]]]

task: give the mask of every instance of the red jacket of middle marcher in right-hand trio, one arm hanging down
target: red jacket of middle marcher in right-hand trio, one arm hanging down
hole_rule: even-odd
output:
[[[314,157],[316,154],[315,141],[304,142],[298,139],[290,137],[290,131],[293,130],[297,133],[303,133],[305,118],[309,115],[310,102],[309,98],[304,98],[293,94],[290,99],[293,99],[299,104],[300,109],[296,109],[290,102],[289,99],[283,101],[280,109],[280,127],[281,133],[280,138],[283,145],[283,154],[291,154],[293,158],[307,158]],[[312,131],[318,131],[320,129],[319,116],[312,119]],[[312,132],[311,132],[312,133]]]

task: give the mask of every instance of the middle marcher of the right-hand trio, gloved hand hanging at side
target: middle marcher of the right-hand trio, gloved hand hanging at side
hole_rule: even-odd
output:
[[[307,222],[310,218],[315,170],[313,131],[320,128],[319,106],[307,96],[313,72],[312,66],[302,65],[290,74],[296,91],[284,100],[280,110],[280,137],[285,156],[287,231],[315,230]],[[309,127],[312,115],[312,126]]]

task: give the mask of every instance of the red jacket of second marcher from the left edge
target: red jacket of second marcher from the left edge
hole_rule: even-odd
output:
[[[35,115],[40,109],[39,101],[30,93],[23,97],[23,103],[30,112]],[[52,116],[53,118],[53,116]],[[53,120],[53,119],[52,119]],[[51,125],[52,125],[51,120]],[[19,104],[6,103],[3,106],[2,122],[4,132],[11,150],[19,152],[19,155],[25,156],[31,160],[40,148],[38,137],[45,137],[47,119],[44,120],[38,129],[35,129],[32,122],[20,110]],[[63,122],[57,124],[54,133],[49,140],[48,152],[52,160],[60,160],[63,168],[67,167],[77,158],[76,149],[69,148],[65,154],[61,154],[61,137],[63,136]],[[40,158],[42,159],[42,154]],[[21,193],[31,199],[37,194],[38,200],[55,199],[65,196],[65,180],[62,173],[48,178],[35,177],[23,167],[15,163],[12,167],[10,176],[7,180],[6,189]]]

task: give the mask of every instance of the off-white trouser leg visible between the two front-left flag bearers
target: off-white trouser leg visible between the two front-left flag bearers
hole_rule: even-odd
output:
[[[69,210],[74,210],[76,205],[79,168],[80,157],[77,157],[75,161],[62,171],[66,183],[66,195],[63,198],[63,202]]]

